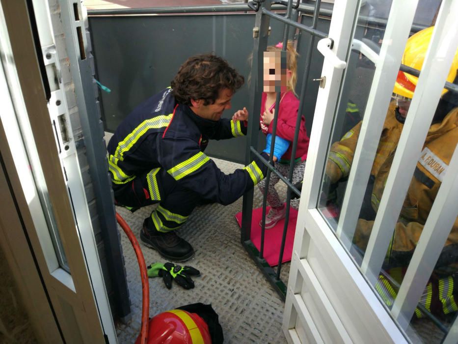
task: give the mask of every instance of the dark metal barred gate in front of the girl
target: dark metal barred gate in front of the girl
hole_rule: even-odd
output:
[[[269,19],[275,19],[285,23],[283,29],[283,51],[286,51],[287,47],[287,40],[289,36],[289,29],[290,27],[294,27],[301,31],[307,32],[310,34],[309,37],[309,47],[312,47],[314,44],[315,36],[324,38],[327,37],[325,32],[319,31],[316,29],[318,24],[318,17],[320,14],[320,5],[321,0],[316,1],[315,7],[313,10],[313,20],[312,25],[305,26],[303,24],[297,23],[296,21],[291,19],[292,11],[293,11],[293,0],[288,1],[288,6],[286,10],[285,16],[280,16],[271,10],[271,3],[264,2],[264,1],[257,1],[258,11],[256,12],[256,22],[255,28],[259,31],[259,36],[254,38],[254,46],[253,46],[253,60],[252,60],[252,69],[251,69],[251,80],[252,83],[250,85],[250,118],[248,120],[248,146],[246,150],[246,162],[252,160],[253,155],[257,155],[260,157],[257,149],[255,147],[256,143],[258,142],[258,119],[257,116],[260,113],[261,109],[261,93],[262,90],[259,89],[259,86],[262,85],[262,73],[263,73],[263,52],[266,51],[267,48],[267,38],[268,38],[268,28],[269,28]],[[300,6],[298,8],[300,10]],[[266,176],[266,188],[264,190],[264,197],[263,197],[263,211],[262,211],[262,228],[261,228],[261,244],[260,250],[255,247],[253,242],[251,241],[251,223],[252,223],[252,209],[253,209],[253,191],[246,193],[243,196],[243,210],[242,210],[242,234],[241,234],[241,242],[243,247],[246,249],[250,257],[255,261],[255,263],[259,266],[261,271],[269,280],[270,284],[280,297],[284,300],[286,297],[286,286],[280,278],[281,268],[282,268],[282,260],[283,254],[285,250],[285,243],[286,243],[286,234],[288,229],[288,222],[289,222],[289,212],[290,212],[290,201],[291,201],[291,192],[294,192],[298,197],[300,197],[300,192],[297,190],[296,186],[292,184],[293,178],[293,170],[295,164],[295,155],[297,149],[297,141],[299,135],[299,129],[301,125],[301,117],[302,117],[302,109],[304,107],[304,98],[305,93],[307,90],[307,83],[310,72],[310,62],[311,62],[311,54],[313,49],[309,49],[307,52],[307,56],[305,59],[305,69],[303,74],[303,82],[299,97],[299,111],[297,113],[297,120],[296,120],[296,130],[294,134],[294,140],[292,143],[292,157],[290,163],[290,169],[288,173],[288,178],[283,177],[281,173],[275,170],[271,166],[273,161],[273,148],[275,145],[275,134],[277,129],[277,115],[279,104],[280,104],[280,92],[277,92],[276,95],[276,102],[275,102],[275,116],[272,121],[272,142],[270,147],[270,156],[269,161],[262,159],[263,163],[269,167],[267,176]],[[280,244],[280,254],[278,257],[278,264],[276,265],[277,268],[274,270],[267,260],[264,257],[264,243],[265,243],[265,219],[266,219],[266,206],[267,206],[267,192],[268,192],[268,185],[270,180],[270,173],[274,172],[278,175],[280,180],[282,180],[287,186],[287,195],[286,195],[286,218],[285,224],[282,233],[282,240]]]

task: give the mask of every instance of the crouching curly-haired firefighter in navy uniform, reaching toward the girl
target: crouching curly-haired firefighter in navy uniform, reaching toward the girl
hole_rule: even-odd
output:
[[[196,205],[239,199],[267,174],[255,157],[224,174],[205,153],[209,140],[246,134],[245,121],[221,118],[243,77],[222,58],[190,57],[167,87],[147,99],[119,125],[108,143],[117,204],[159,203],[146,218],[140,239],[168,260],[185,261],[192,246],[176,234]],[[261,154],[268,159],[268,154]]]

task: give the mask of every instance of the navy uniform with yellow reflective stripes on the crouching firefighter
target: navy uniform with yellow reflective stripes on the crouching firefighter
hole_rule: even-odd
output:
[[[204,150],[208,140],[245,134],[246,122],[201,118],[166,88],[135,108],[108,143],[115,200],[130,207],[159,202],[151,217],[160,231],[179,228],[198,204],[236,201],[264,178],[267,166],[255,158],[226,175]]]

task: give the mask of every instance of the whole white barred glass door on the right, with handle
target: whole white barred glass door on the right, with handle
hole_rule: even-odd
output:
[[[453,0],[334,4],[287,336],[457,341],[457,10]]]

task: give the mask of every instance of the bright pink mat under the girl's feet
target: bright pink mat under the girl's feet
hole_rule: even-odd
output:
[[[266,214],[269,213],[270,207],[267,207]],[[258,251],[261,249],[261,227],[259,222],[263,216],[263,209],[253,209],[253,215],[251,219],[251,242],[256,246]],[[235,215],[239,226],[242,227],[242,212]],[[290,261],[291,255],[293,254],[293,243],[294,243],[294,232],[296,230],[297,221],[297,210],[290,208],[290,218],[288,221],[288,229],[286,231],[286,242],[285,250],[283,251],[282,263]],[[270,266],[278,264],[278,258],[280,257],[280,246],[281,238],[283,235],[283,226],[285,220],[280,220],[271,229],[266,229],[264,232],[264,259],[269,263]]]

